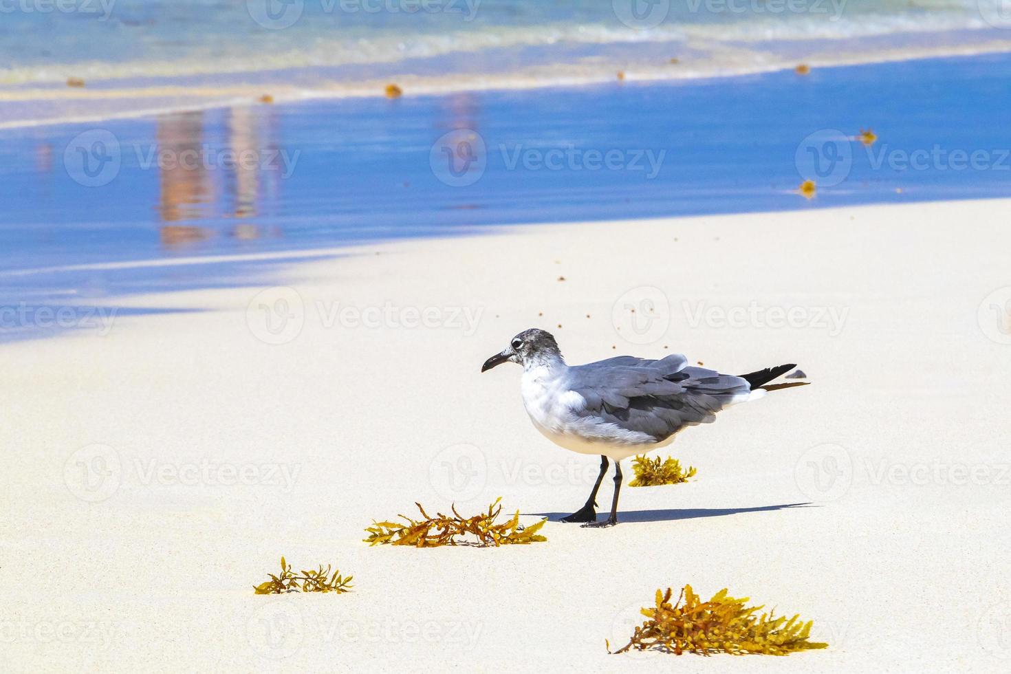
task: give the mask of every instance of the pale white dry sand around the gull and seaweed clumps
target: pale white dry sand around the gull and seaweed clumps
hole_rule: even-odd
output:
[[[273,282],[293,296],[130,297],[195,311],[4,345],[0,669],[1007,671],[1011,335],[991,305],[1011,297],[1009,214],[929,203],[396,243],[292,266]],[[649,301],[653,321],[633,322],[627,305]],[[378,325],[340,313],[386,306],[362,317]],[[405,327],[407,307],[438,325]],[[570,363],[797,362],[814,385],[685,430],[663,454],[698,477],[626,486],[617,527],[549,522],[548,543],[498,550],[362,543],[415,500],[502,496],[528,521],[581,504],[596,461],[534,430],[517,367],[478,372],[531,326]],[[282,554],[336,562],[354,591],[254,595]],[[831,646],[607,654],[657,587],[684,583],[800,612]]]

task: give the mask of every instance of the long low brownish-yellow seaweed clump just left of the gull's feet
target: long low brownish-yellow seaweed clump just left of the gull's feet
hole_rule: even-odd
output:
[[[406,515],[398,515],[406,520],[406,524],[391,521],[373,521],[367,527],[369,545],[415,546],[416,548],[436,548],[439,546],[475,546],[488,548],[503,545],[527,545],[547,541],[537,532],[544,526],[547,517],[531,524],[520,524],[520,511],[517,510],[509,521],[495,523],[495,518],[501,512],[499,505],[501,497],[488,506],[487,512],[464,517],[452,506],[453,515],[437,512],[435,517],[429,515],[421,503],[415,503],[425,519],[411,519]],[[462,539],[462,540],[457,540]]]

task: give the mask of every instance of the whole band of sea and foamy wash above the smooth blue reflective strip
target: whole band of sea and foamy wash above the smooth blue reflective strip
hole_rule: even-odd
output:
[[[0,3],[0,127],[278,100],[1011,53],[1006,0]],[[634,11],[633,11],[634,10]],[[676,60],[675,63],[671,59]],[[86,87],[68,87],[69,81]]]

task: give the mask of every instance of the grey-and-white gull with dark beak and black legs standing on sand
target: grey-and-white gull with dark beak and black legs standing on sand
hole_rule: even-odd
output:
[[[563,449],[601,457],[601,473],[586,504],[562,517],[583,526],[618,523],[623,459],[666,447],[678,430],[714,421],[724,407],[808,383],[766,385],[796,368],[794,364],[734,376],[688,367],[676,354],[660,360],[619,356],[567,365],[555,338],[538,328],[513,338],[509,347],[484,362],[481,372],[505,362],[523,366],[520,393],[534,426]],[[611,516],[596,521],[596,491],[609,458],[615,462],[615,495]]]

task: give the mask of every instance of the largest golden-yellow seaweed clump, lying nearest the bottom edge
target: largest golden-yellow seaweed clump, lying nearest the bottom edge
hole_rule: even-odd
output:
[[[748,597],[729,597],[726,588],[709,601],[701,601],[691,585],[681,588],[673,605],[671,595],[669,587],[666,592],[656,591],[656,606],[642,609],[642,614],[649,619],[635,629],[631,641],[615,651],[616,654],[635,649],[675,655],[685,652],[790,655],[828,647],[828,644],[808,641],[811,620],[803,622],[798,615],[790,619],[775,617],[772,611],[755,615],[762,606],[745,606]],[[608,652],[611,652],[610,644]]]

